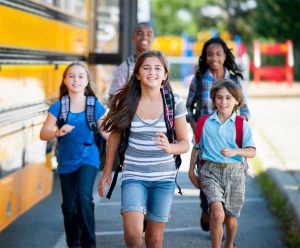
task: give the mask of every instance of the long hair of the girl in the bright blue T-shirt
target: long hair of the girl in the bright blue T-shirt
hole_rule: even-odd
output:
[[[87,84],[87,86],[84,89],[84,95],[85,96],[95,96],[95,92],[93,91],[92,86],[91,86],[91,76],[90,76],[89,70],[87,69],[87,67],[85,67],[85,65],[83,63],[81,63],[79,61],[74,61],[73,63],[69,64],[67,66],[67,68],[64,70],[63,77],[62,77],[62,80],[61,80],[61,84],[60,84],[60,87],[59,87],[59,98],[61,98],[62,96],[66,96],[66,95],[69,94],[68,88],[67,88],[67,86],[64,83],[64,79],[67,77],[69,69],[72,66],[76,66],[76,65],[77,66],[81,66],[85,70],[85,72],[86,72],[88,84]]]

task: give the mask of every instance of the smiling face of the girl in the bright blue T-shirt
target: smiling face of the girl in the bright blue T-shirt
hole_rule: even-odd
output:
[[[71,66],[64,78],[64,84],[71,93],[83,93],[88,84],[86,70],[80,65]]]

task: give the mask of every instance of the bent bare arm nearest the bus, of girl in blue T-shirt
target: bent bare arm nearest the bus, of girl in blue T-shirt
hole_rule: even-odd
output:
[[[74,126],[68,124],[63,125],[57,131],[53,130],[56,126],[56,120],[57,119],[52,114],[48,113],[48,116],[40,132],[41,140],[45,140],[45,141],[52,140],[54,138],[58,138],[72,132]]]

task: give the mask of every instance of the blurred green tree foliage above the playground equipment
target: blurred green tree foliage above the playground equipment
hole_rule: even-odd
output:
[[[185,32],[196,39],[198,32],[217,30],[238,34],[252,52],[253,40],[294,44],[295,77],[300,78],[300,0],[254,0],[255,8],[244,8],[248,0],[152,0],[152,18],[156,36],[181,36]],[[214,18],[202,14],[203,7],[217,6],[222,16]],[[183,20],[178,13],[184,10],[190,20]],[[273,63],[273,62],[272,62]],[[273,63],[274,64],[274,63]],[[275,64],[281,64],[281,62]]]

